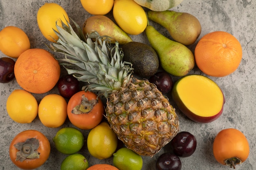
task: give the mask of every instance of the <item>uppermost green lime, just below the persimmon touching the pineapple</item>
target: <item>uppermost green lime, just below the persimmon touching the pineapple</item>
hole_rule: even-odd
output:
[[[56,149],[63,154],[78,152],[83,144],[83,134],[76,128],[62,128],[53,138]]]

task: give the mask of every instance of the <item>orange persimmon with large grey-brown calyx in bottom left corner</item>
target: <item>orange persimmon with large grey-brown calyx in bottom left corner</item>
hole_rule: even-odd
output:
[[[9,147],[11,161],[23,170],[32,170],[45,163],[50,155],[50,143],[43,133],[25,130],[13,138]]]

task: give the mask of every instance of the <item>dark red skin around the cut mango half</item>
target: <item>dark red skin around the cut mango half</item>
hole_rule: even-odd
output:
[[[179,81],[179,80],[178,80]],[[178,82],[177,81],[177,82]],[[178,96],[177,94],[177,91],[175,90],[176,89],[176,86],[177,86],[177,82],[175,83],[175,85],[173,86],[173,90],[171,92],[171,95],[172,95],[172,98],[173,98],[173,101],[177,104],[178,108],[180,109],[180,111],[182,113],[184,113],[184,115],[186,115],[186,117],[188,117],[189,119],[195,121],[195,122],[198,122],[198,123],[209,123],[209,122],[212,122],[216,119],[218,119],[220,117],[220,115],[222,114],[223,112],[223,107],[224,107],[224,104],[226,102],[225,100],[225,96],[224,96],[224,93],[222,92],[222,95],[223,95],[223,104],[222,104],[222,108],[220,110],[219,113],[217,113],[216,115],[214,116],[211,116],[211,117],[202,117],[202,116],[198,116],[198,115],[195,115],[193,112],[191,112],[185,105],[184,103],[181,101],[180,97]]]

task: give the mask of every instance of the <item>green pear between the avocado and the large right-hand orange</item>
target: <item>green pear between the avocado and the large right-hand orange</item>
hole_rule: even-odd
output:
[[[174,76],[184,76],[195,66],[195,58],[185,45],[170,40],[159,33],[153,26],[145,29],[152,48],[157,52],[162,68]]]

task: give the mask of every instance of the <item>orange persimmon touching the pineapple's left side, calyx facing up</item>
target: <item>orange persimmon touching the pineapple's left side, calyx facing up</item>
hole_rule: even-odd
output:
[[[75,93],[67,104],[67,116],[70,122],[80,129],[92,129],[97,126],[104,114],[100,98],[90,91]]]

